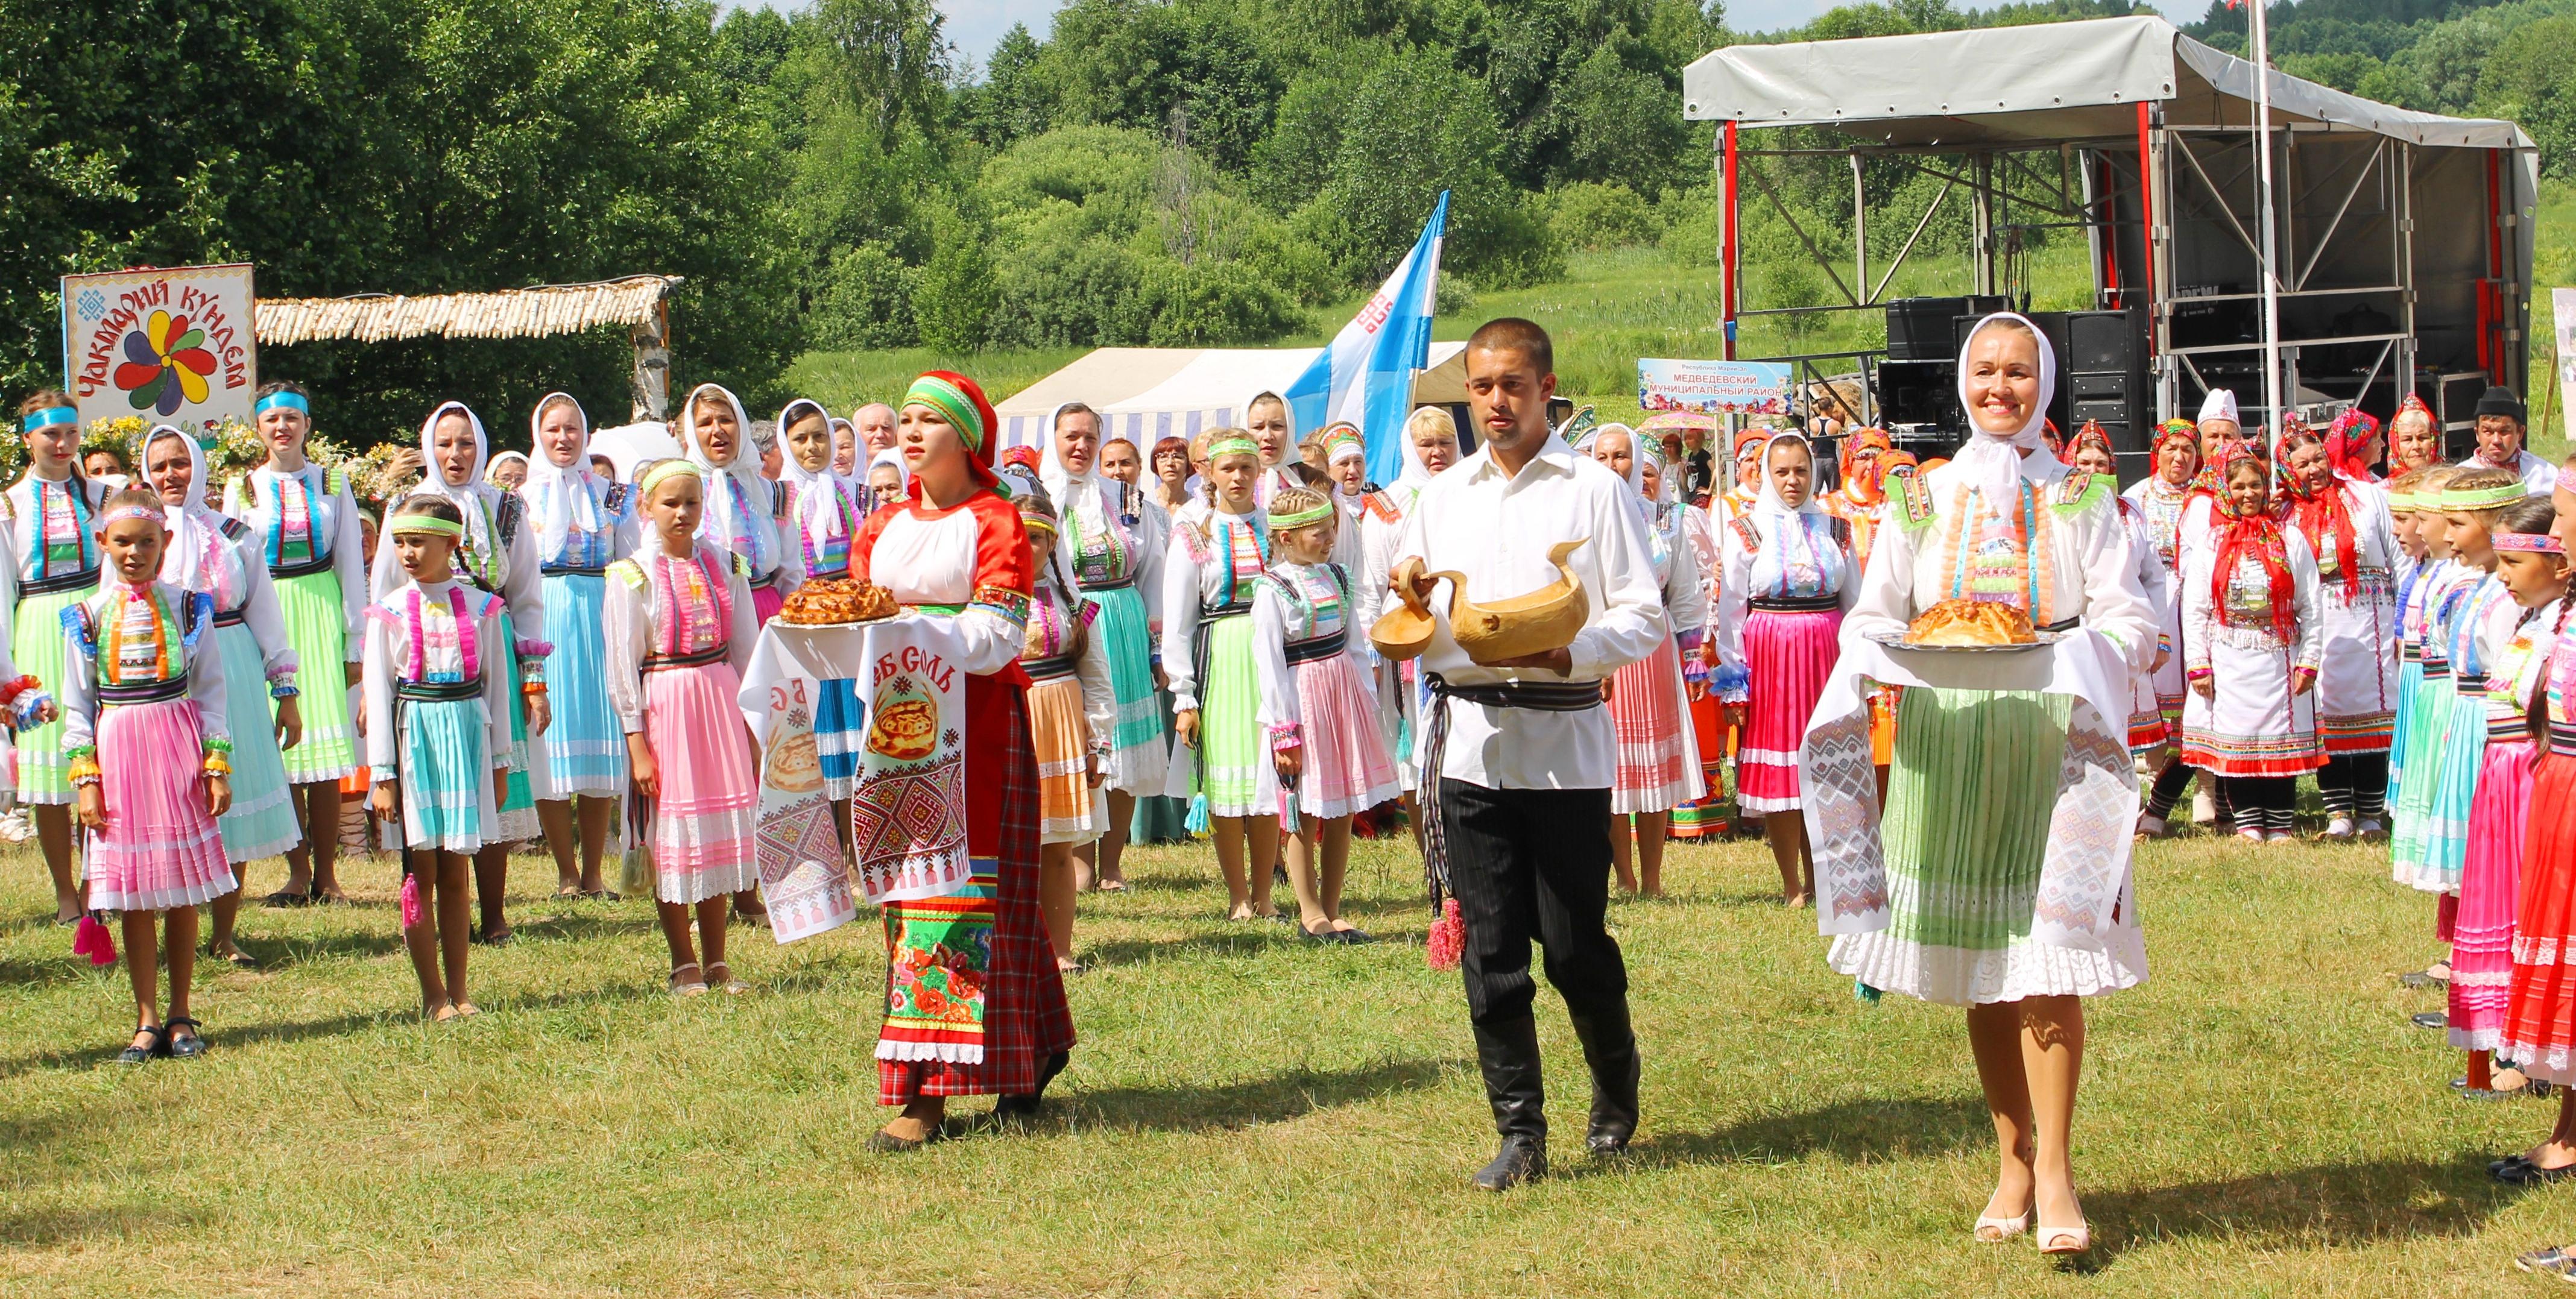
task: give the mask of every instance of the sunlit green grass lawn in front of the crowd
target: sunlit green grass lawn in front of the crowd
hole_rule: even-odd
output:
[[[1355,918],[1399,941],[1327,951],[1218,920],[1206,851],[1144,853],[1139,892],[1084,900],[1051,1119],[884,1157],[871,925],[737,928],[757,992],[683,1003],[641,902],[538,900],[523,858],[518,946],[474,951],[487,1015],[433,1028],[361,861],[361,905],[247,918],[268,967],[201,992],[209,1057],[126,1070],[121,974],[10,851],[0,1291],[2555,1294],[2509,1258],[2576,1237],[2576,1188],[2486,1178],[2550,1108],[2450,1095],[2458,1052],[2406,1023],[2437,997],[2388,977],[2432,902],[2362,848],[2143,853],[2154,977],[2089,1008],[2089,1276],[1968,1240],[1994,1155],[1958,1010],[1857,1003],[1752,843],[1677,848],[1672,902],[1613,907],[1633,1157],[1577,1152],[1540,990],[1558,1175],[1466,1191],[1492,1129],[1414,871],[1368,845]]]

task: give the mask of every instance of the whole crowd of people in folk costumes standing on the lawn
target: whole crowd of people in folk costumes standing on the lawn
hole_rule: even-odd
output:
[[[2576,479],[2524,451],[2512,392],[2478,402],[2460,464],[2414,397],[2383,438],[2357,410],[2249,428],[2210,392],[2120,492],[2102,428],[2045,420],[2056,363],[2014,314],[1963,345],[1973,430],[1947,461],[1878,428],[1744,430],[1718,464],[1700,428],[1558,425],[1551,343],[1517,320],[1479,330],[1468,371],[1473,454],[1422,407],[1386,485],[1358,428],[1298,428],[1278,392],[1151,446],[1066,402],[1005,448],[958,374],[848,420],[796,399],[755,423],[703,384],[680,454],[623,474],[569,394],[502,454],[443,402],[381,515],[307,459],[296,384],[260,389],[268,459],[232,482],[170,425],[108,479],[41,392],[0,500],[15,796],[80,951],[121,938],[131,1062],[206,1049],[196,907],[211,959],[252,964],[247,863],[286,858],[270,905],[343,897],[343,794],[399,848],[438,1021],[479,1013],[469,948],[510,938],[531,840],[562,897],[649,863],[618,887],[652,892],[672,992],[744,992],[726,925],[760,912],[760,747],[737,696],[781,603],[850,575],[948,619],[969,673],[974,869],[889,902],[889,946],[927,923],[989,943],[976,1049],[889,1010],[886,1150],[938,1139],[951,1095],[1038,1103],[1074,1044],[1079,900],[1126,889],[1131,843],[1206,835],[1229,920],[1370,943],[1342,912],[1350,843],[1409,827],[1502,1137],[1479,1186],[1546,1170],[1533,938],[1592,1072],[1587,1147],[1615,1152],[1641,1064],[1610,881],[1659,894],[1667,840],[1734,830],[1868,997],[1968,1008],[1999,1137],[1976,1235],[2035,1217],[2043,1250],[2084,1250],[2081,997],[2146,977],[2130,843],[2182,830],[2195,781],[2192,822],[2298,843],[2303,776],[2318,838],[2385,840],[2437,897],[2416,979],[2447,987],[2452,1044],[2494,1054],[2478,1090],[2576,1082]],[[1370,644],[1440,580],[1510,598],[1561,575],[1589,595],[1564,650],[1476,662],[1445,619],[1419,657]],[[1883,647],[1942,601],[2025,611],[2069,668],[1963,686]],[[819,686],[848,825],[866,704]],[[2576,1175],[2563,1095],[2499,1178]]]

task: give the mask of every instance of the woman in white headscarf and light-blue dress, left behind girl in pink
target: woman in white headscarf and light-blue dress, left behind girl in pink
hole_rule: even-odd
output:
[[[600,861],[626,796],[626,735],[608,706],[600,608],[608,606],[608,564],[636,549],[634,490],[590,472],[590,415],[569,394],[541,397],[528,433],[536,464],[520,500],[536,528],[544,637],[554,647],[546,655],[544,745],[531,745],[531,758],[546,765],[549,794],[536,804],[536,820],[554,848],[554,894],[613,897]]]

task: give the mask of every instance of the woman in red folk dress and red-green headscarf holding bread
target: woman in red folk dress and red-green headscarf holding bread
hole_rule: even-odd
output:
[[[1033,1113],[1074,1046],[1064,977],[1038,912],[1038,760],[1028,735],[1028,673],[1020,670],[1036,567],[1020,510],[992,472],[992,402],[974,379],[951,371],[914,379],[896,430],[912,487],[871,513],[850,546],[850,577],[884,585],[907,608],[956,616],[966,639],[958,668],[969,673],[966,856],[974,879],[956,905],[961,920],[951,923],[961,941],[927,954],[945,977],[925,979],[922,969],[899,969],[925,956],[894,943],[889,928],[889,997],[909,990],[920,1000],[922,987],[940,990],[940,1000],[984,995],[981,1059],[886,1059],[902,1052],[878,1049],[878,1103],[904,1106],[871,1139],[878,1150],[935,1142],[951,1095],[997,1093],[997,1113]],[[976,912],[989,915],[989,928]],[[889,1039],[891,1031],[889,1015]]]

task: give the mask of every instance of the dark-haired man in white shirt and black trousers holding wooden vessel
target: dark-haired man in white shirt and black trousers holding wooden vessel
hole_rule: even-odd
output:
[[[1486,322],[1466,345],[1466,392],[1484,446],[1422,487],[1394,588],[1430,603],[1425,572],[1455,572],[1468,601],[1510,601],[1558,580],[1548,559],[1558,541],[1584,541],[1569,567],[1589,603],[1564,650],[1476,665],[1440,601],[1422,655],[1432,688],[1425,856],[1466,920],[1466,1005],[1502,1137],[1473,1180],[1510,1191],[1548,1170],[1530,938],[1546,948],[1548,982],[1566,997],[1592,1070],[1584,1144],[1613,1155],[1636,1131],[1628,967],[1602,928],[1618,735],[1600,691],[1664,642],[1664,601],[1628,485],[1548,428],[1548,332],[1528,320]]]

